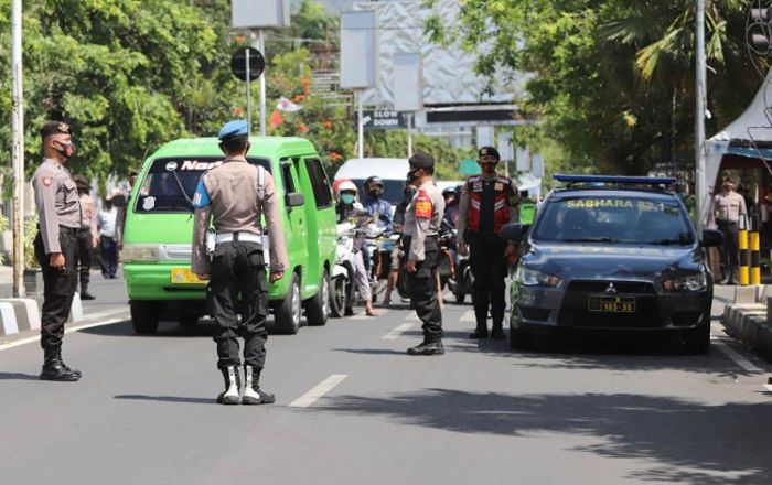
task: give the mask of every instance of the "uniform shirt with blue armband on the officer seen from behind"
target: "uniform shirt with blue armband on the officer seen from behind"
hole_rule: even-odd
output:
[[[258,170],[244,157],[230,157],[223,164],[202,175],[194,196],[195,222],[193,229],[192,270],[208,273],[206,230],[214,219],[217,234],[250,233],[262,235],[261,215],[270,240],[270,268],[283,271],[289,267],[287,245],[281,227],[279,201],[274,177],[265,171],[262,201],[258,195]]]

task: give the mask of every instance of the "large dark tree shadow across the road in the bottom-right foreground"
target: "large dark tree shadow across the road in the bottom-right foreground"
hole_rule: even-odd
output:
[[[760,425],[772,416],[772,402],[709,406],[633,394],[514,396],[454,389],[385,398],[329,397],[325,402],[318,409],[457,433],[597,438],[600,443],[571,450],[651,463],[651,470],[635,472],[633,479],[772,483],[769,429]]]

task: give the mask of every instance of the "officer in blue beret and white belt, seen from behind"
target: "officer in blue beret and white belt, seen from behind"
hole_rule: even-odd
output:
[[[225,160],[202,175],[193,201],[192,270],[203,280],[211,279],[206,288],[207,303],[216,325],[217,367],[225,379],[225,390],[217,396],[217,402],[267,405],[275,399],[259,386],[268,336],[268,284],[260,217],[266,217],[270,239],[270,282],[275,282],[282,278],[289,265],[279,201],[271,174],[246,160],[250,147],[246,121],[226,123],[218,138]],[[206,234],[211,220],[216,236],[210,261]],[[240,328],[235,310],[236,295],[240,295],[243,302]],[[236,338],[239,334],[244,336],[243,391]]]

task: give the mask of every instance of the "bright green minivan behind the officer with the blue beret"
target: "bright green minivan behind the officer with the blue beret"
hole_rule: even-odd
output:
[[[290,270],[269,285],[272,330],[297,333],[303,308],[309,325],[324,325],[337,235],[332,190],[319,154],[302,138],[253,137],[250,142],[247,160],[276,180],[290,260]],[[193,325],[208,313],[206,283],[191,271],[191,201],[201,175],[223,158],[216,138],[181,139],[162,146],[142,165],[127,201],[122,250],[138,333],[156,332],[167,312],[181,325]],[[264,241],[270,244],[267,236]]]

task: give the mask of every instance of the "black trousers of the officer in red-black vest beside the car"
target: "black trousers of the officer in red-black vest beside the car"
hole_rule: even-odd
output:
[[[474,276],[472,299],[478,328],[487,328],[487,310],[493,326],[501,327],[506,306],[506,241],[494,235],[469,234],[469,263]]]

